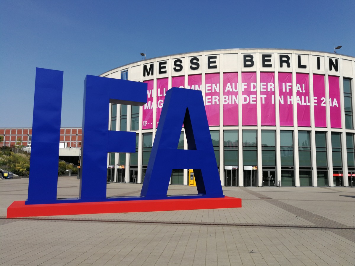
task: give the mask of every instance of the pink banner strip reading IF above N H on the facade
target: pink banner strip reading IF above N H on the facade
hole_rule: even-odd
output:
[[[280,126],[293,126],[292,73],[279,72]]]

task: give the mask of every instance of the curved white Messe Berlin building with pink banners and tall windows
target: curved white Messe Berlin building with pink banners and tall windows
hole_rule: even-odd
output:
[[[355,57],[210,50],[146,59],[100,76],[148,85],[146,105],[111,105],[109,129],[136,132],[136,153],[108,155],[111,182],[144,180],[165,93],[181,87],[202,91],[222,185],[355,185]],[[183,127],[178,148],[187,149]],[[188,170],[176,169],[170,182],[189,178]]]

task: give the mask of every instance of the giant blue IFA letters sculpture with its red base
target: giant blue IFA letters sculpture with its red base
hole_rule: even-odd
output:
[[[166,93],[141,195],[107,197],[107,154],[134,153],[136,147],[135,132],[108,130],[109,104],[144,105],[147,84],[89,75],[84,83],[80,194],[58,199],[62,84],[62,71],[37,68],[28,199],[14,201],[8,218],[241,207],[241,199],[223,195],[201,91],[181,88]],[[188,150],[178,149],[182,124]],[[193,169],[197,194],[167,195],[173,169]]]

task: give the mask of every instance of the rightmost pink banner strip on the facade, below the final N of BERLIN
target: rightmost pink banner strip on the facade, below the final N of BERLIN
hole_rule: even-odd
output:
[[[340,111],[339,77],[329,76],[329,111],[331,113],[331,127],[342,128],[342,114]]]

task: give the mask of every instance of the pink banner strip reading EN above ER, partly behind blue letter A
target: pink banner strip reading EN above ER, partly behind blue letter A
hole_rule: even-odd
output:
[[[219,126],[219,73],[206,74],[204,102],[209,126]]]

